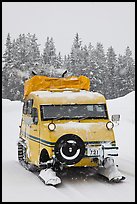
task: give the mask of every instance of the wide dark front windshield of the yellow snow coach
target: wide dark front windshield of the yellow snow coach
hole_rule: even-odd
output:
[[[41,105],[41,120],[108,119],[105,104]]]

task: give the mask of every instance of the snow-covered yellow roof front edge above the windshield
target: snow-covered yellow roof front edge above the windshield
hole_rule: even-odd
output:
[[[105,97],[93,91],[33,91],[27,98],[33,98],[38,104],[104,104]]]

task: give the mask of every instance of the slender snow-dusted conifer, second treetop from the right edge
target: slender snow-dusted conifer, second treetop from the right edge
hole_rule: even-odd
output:
[[[107,50],[106,56],[106,87],[105,87],[105,95],[107,98],[116,98],[118,90],[116,89],[117,83],[117,59],[116,54],[112,46],[110,46]]]

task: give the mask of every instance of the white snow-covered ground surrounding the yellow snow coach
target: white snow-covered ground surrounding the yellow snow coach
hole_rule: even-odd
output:
[[[108,100],[109,114],[120,114],[115,126],[119,157],[126,176],[110,184],[95,175],[64,176],[59,187],[45,186],[17,161],[17,141],[22,103],[2,100],[2,201],[3,202],[134,202],[135,201],[135,92]]]

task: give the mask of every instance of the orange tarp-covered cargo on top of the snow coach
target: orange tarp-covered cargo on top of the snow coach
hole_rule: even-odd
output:
[[[52,78],[35,75],[25,81],[24,98],[32,91],[63,91],[90,90],[90,79],[86,76],[71,76],[66,78]]]

